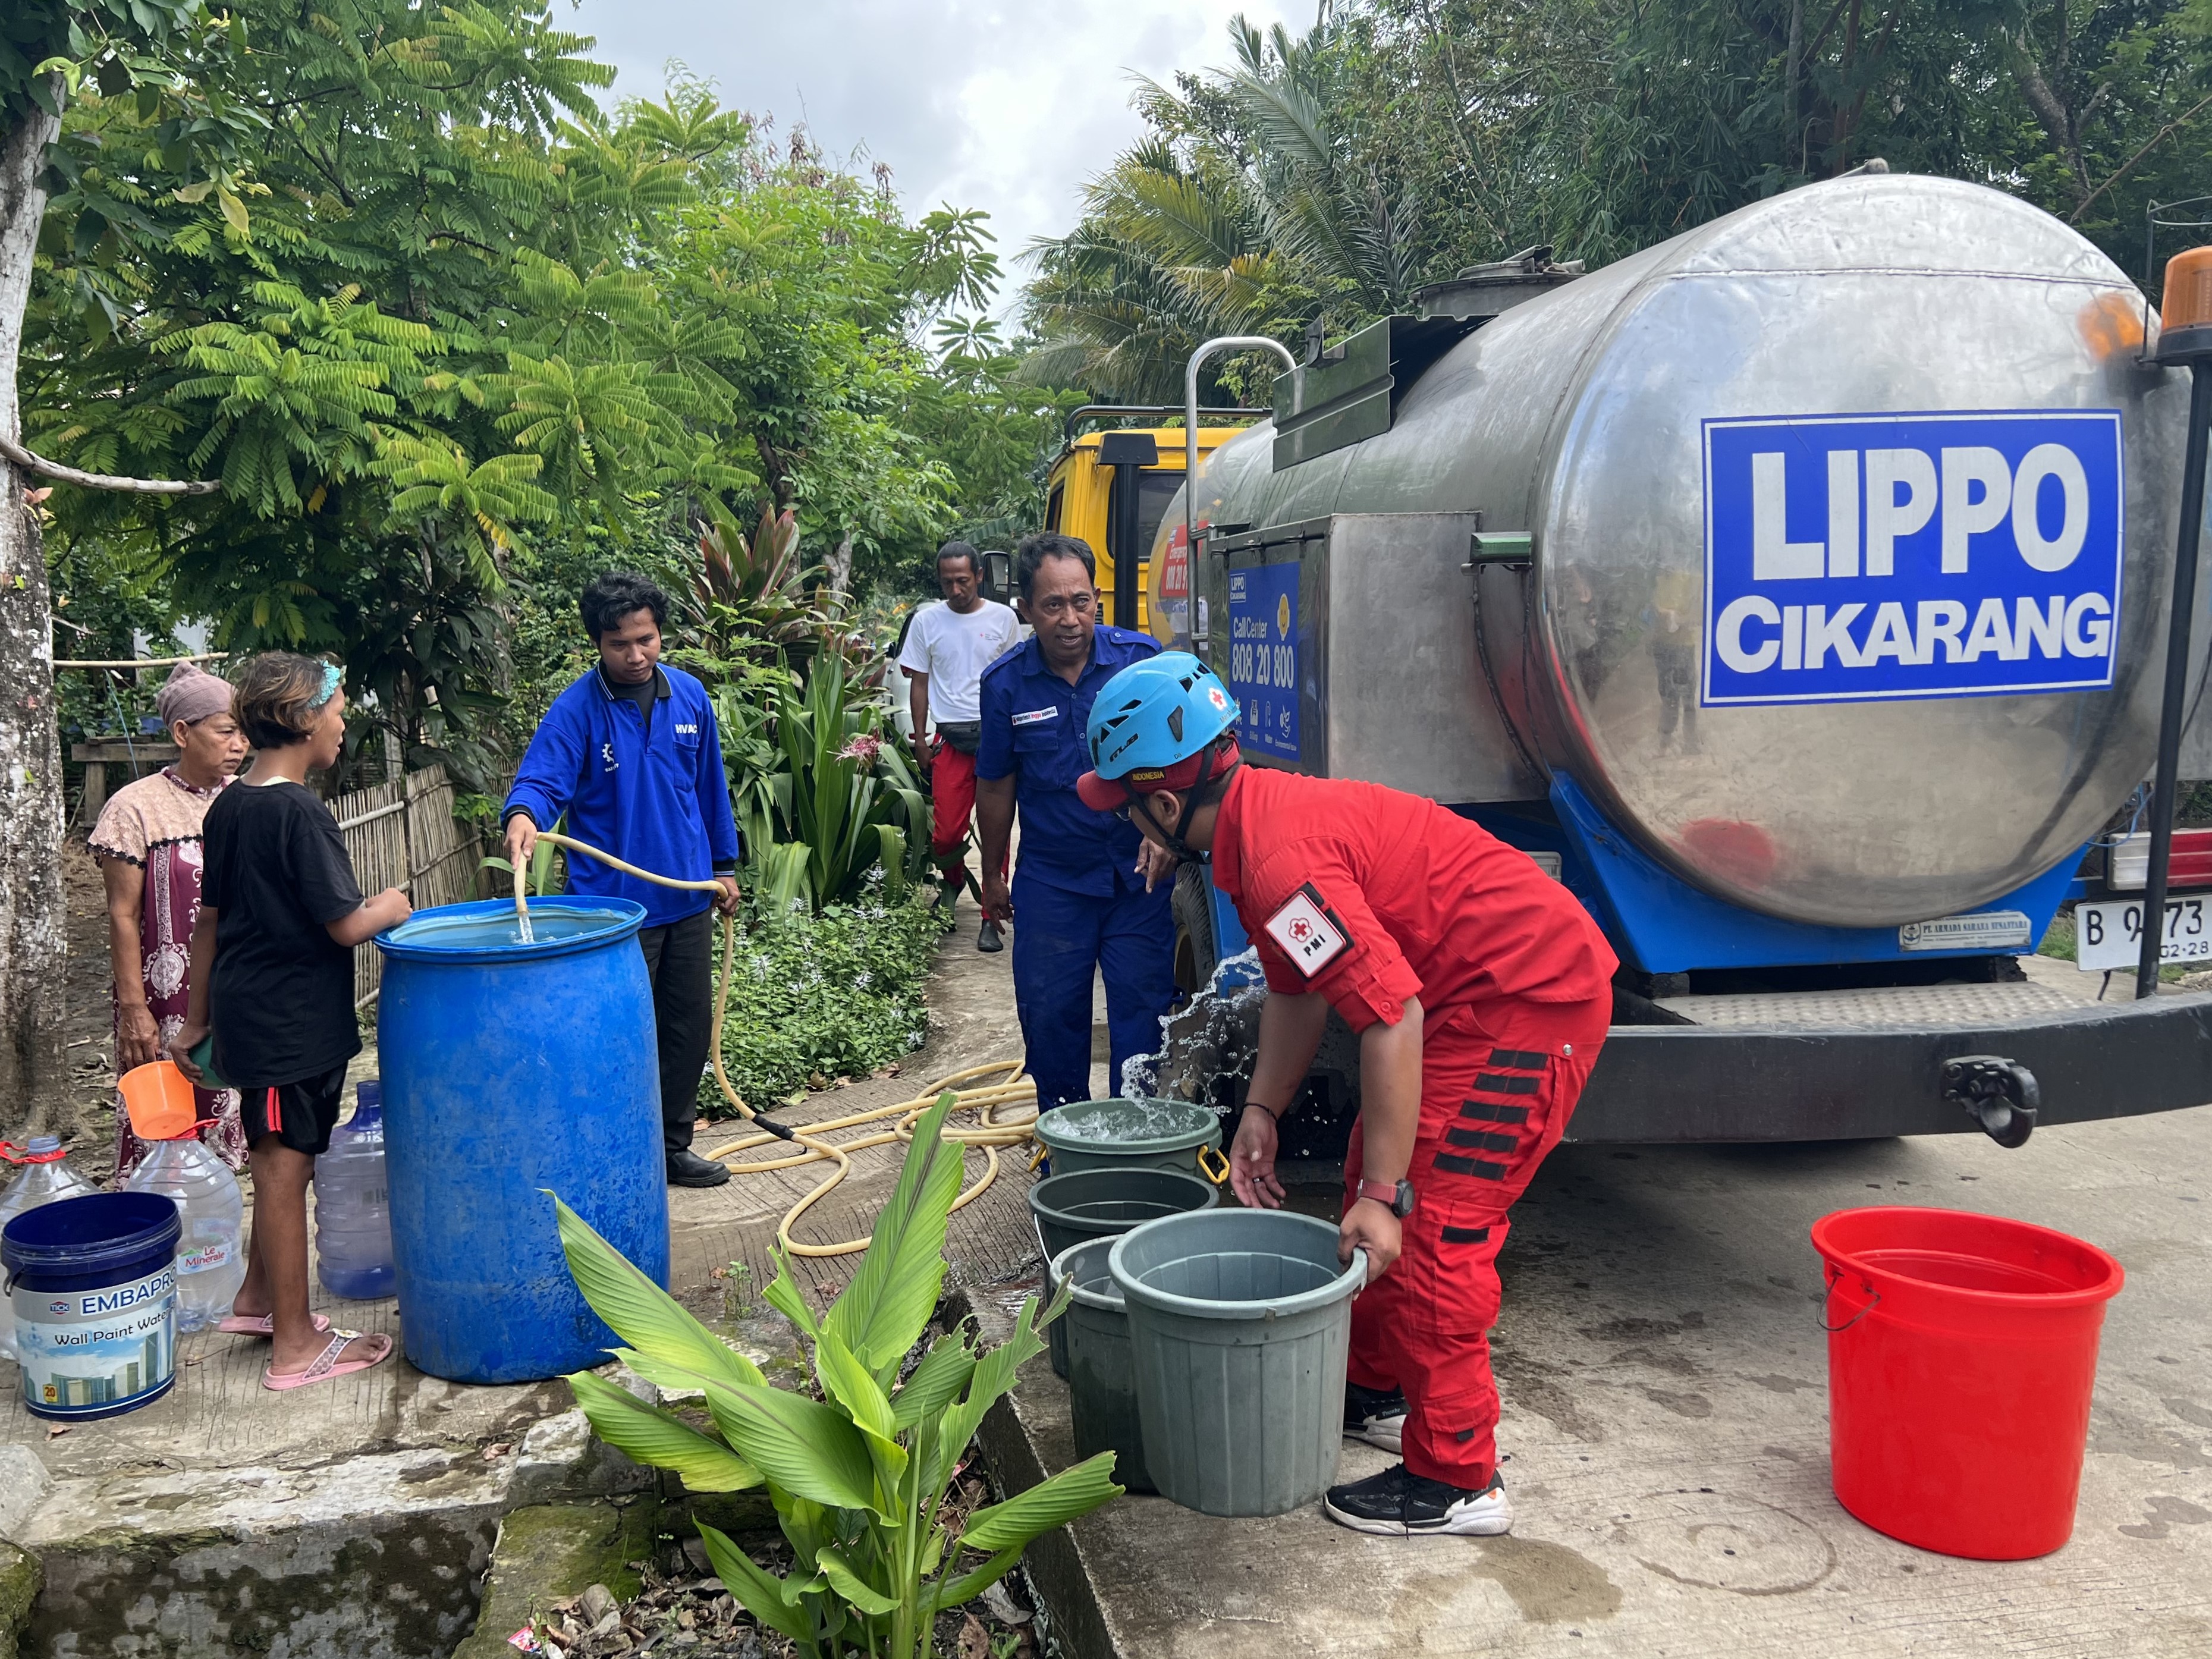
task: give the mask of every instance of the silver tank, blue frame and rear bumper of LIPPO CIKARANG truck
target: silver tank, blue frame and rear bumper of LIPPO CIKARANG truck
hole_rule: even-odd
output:
[[[1194,540],[1164,513],[1150,622],[1250,763],[1442,801],[1604,925],[1571,1139],[2194,1106],[2212,998],[2020,967],[2157,748],[2190,392],[2154,341],[2093,243],[1951,179],[1531,250],[1312,345]],[[1201,872],[1177,918],[1192,984],[1243,947]],[[1354,1108],[1325,1044],[1285,1150]]]

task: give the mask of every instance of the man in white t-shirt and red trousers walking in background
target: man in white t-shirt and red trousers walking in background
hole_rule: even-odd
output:
[[[982,557],[967,542],[938,549],[938,588],[945,604],[914,613],[898,666],[914,681],[914,761],[929,779],[933,818],[929,854],[945,874],[945,905],[951,905],[967,878],[967,827],[975,812],[975,745],[982,739],[975,688],[982,670],[1013,650],[1020,626],[1013,611],[982,597]],[[975,931],[975,949],[1004,949],[989,916]]]

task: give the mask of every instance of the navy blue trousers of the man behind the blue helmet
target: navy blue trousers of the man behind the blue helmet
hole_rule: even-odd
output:
[[[1170,885],[1097,898],[1071,894],[1015,865],[1013,1006],[1022,1015],[1037,1110],[1091,1099],[1091,975],[1106,975],[1106,1031],[1121,1093],[1121,1062],[1159,1051],[1175,1000]]]

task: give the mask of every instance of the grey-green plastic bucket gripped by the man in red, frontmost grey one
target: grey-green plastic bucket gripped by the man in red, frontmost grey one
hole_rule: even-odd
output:
[[[1352,1296],[1336,1228],[1290,1210],[1206,1210],[1121,1234],[1137,1418],[1161,1498],[1206,1515],[1281,1515],[1336,1478]]]

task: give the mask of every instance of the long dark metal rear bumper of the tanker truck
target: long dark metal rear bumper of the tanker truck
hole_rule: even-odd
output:
[[[2212,995],[1911,1024],[1613,1026],[1571,1141],[1825,1141],[1975,1130],[1942,1066],[2004,1055],[2042,1086],[2039,1121],[2212,1102]]]

